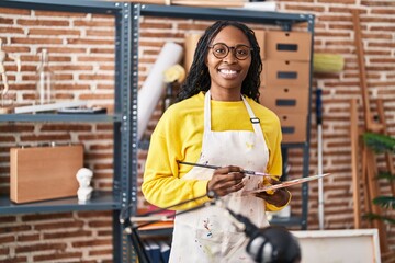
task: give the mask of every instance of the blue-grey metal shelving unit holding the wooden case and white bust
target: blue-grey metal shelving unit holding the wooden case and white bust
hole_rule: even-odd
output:
[[[57,213],[79,210],[113,210],[113,261],[131,262],[133,254],[126,235],[119,220],[122,208],[136,202],[136,188],[132,191],[131,178],[137,176],[137,89],[131,89],[136,82],[137,70],[132,68],[131,44],[131,3],[81,1],[81,0],[2,0],[0,7],[14,9],[47,10],[60,12],[98,13],[114,15],[115,19],[115,101],[114,114],[7,114],[0,115],[2,123],[112,123],[114,127],[114,178],[113,191],[95,191],[86,204],[79,204],[77,197],[56,201],[34,202],[15,205],[9,196],[0,196],[0,214]]]

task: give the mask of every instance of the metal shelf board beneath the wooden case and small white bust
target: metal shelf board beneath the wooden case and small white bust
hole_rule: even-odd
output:
[[[92,198],[86,204],[78,204],[77,197],[14,204],[9,196],[0,196],[1,215],[114,209],[121,209],[121,202],[117,202],[111,192],[93,192]]]

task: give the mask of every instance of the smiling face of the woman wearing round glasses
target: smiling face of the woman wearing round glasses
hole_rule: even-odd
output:
[[[225,44],[229,52],[226,54],[226,47],[217,48],[215,46],[218,43]],[[211,92],[216,94],[234,94],[239,100],[241,83],[248,73],[249,66],[251,64],[251,55],[245,57],[245,52],[250,47],[250,43],[247,36],[237,27],[226,26],[213,38],[210,43],[206,65],[208,67],[211,78]],[[233,48],[233,47],[241,48]],[[216,56],[213,54],[216,53]],[[249,50],[247,50],[249,52]],[[241,59],[236,58],[239,56]],[[223,57],[223,58],[218,58]]]

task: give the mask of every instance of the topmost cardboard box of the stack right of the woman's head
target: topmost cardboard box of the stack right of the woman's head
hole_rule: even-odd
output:
[[[268,31],[264,37],[264,57],[282,60],[311,60],[309,32]]]

